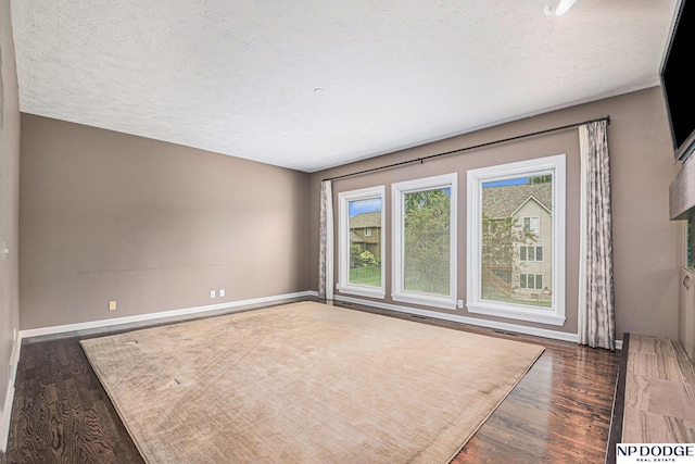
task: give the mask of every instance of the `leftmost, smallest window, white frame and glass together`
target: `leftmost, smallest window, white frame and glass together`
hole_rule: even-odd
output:
[[[343,293],[386,296],[383,197],[383,186],[338,195],[338,289]]]

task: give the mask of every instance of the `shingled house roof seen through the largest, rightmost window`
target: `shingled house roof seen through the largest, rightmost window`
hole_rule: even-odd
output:
[[[553,185],[546,183],[486,187],[482,193],[482,211],[492,218],[508,217],[531,199],[552,211]]]

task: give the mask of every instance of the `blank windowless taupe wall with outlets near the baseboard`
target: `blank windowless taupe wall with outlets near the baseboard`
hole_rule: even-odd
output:
[[[308,178],[23,114],[22,328],[309,290]]]

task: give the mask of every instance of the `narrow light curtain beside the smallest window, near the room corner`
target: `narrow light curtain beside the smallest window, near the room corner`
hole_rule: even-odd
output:
[[[333,191],[330,180],[321,183],[318,249],[318,298],[333,299]]]

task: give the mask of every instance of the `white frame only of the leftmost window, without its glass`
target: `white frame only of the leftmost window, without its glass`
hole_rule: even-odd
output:
[[[358,285],[350,281],[350,202],[381,199],[381,285]],[[338,290],[341,293],[383,299],[386,291],[386,187],[368,187],[338,193]]]

